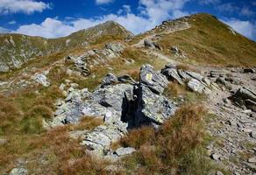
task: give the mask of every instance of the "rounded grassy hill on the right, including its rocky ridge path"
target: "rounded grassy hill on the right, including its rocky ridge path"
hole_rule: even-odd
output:
[[[132,44],[144,46],[145,40],[157,44],[156,49],[162,50],[170,57],[190,64],[256,64],[256,43],[209,14],[164,21],[153,30],[136,36]],[[151,47],[148,43],[146,45]]]

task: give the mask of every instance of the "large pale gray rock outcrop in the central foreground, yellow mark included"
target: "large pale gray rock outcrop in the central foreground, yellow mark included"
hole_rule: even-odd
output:
[[[96,155],[122,157],[135,150],[109,151],[110,144],[124,137],[127,129],[143,124],[157,126],[174,115],[174,102],[162,95],[167,83],[166,76],[150,65],[141,67],[139,82],[129,75],[116,77],[109,73],[94,92],[86,88],[78,90],[76,86],[69,88],[65,101],[56,103],[55,117],[45,126],[79,123],[82,116],[103,118],[104,125],[84,133],[82,144]]]

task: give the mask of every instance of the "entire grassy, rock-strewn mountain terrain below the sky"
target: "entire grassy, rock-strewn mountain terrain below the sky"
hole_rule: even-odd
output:
[[[1,174],[255,173],[255,43],[216,18],[1,37],[53,49],[0,73]]]

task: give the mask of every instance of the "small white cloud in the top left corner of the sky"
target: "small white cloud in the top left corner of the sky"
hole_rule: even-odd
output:
[[[50,9],[50,4],[34,0],[0,0],[0,14],[25,13],[32,14]]]

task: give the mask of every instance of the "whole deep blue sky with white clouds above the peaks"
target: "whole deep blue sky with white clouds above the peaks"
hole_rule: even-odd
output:
[[[58,38],[114,20],[138,34],[198,12],[256,40],[256,0],[0,0],[0,32]]]

